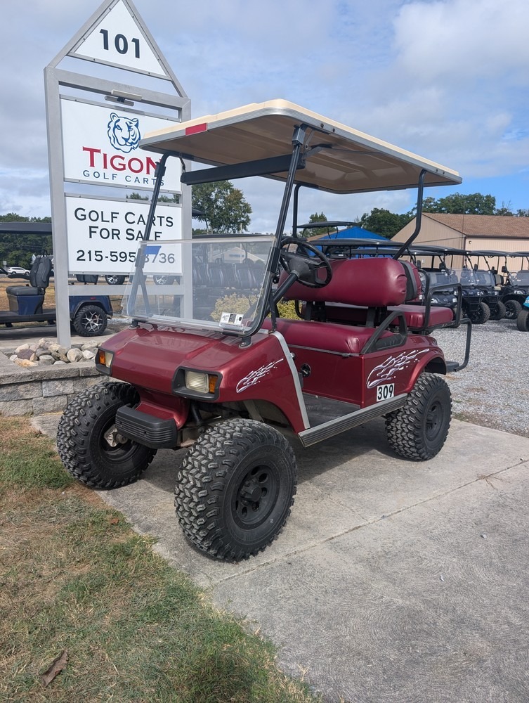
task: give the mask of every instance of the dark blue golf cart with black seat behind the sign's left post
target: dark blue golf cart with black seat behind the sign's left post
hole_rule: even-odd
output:
[[[8,285],[8,311],[0,311],[0,325],[13,327],[15,323],[47,322],[55,324],[55,309],[44,309],[44,296],[50,283],[51,257],[36,257],[30,273],[12,275],[0,266],[8,278],[29,280],[25,285]],[[74,295],[70,297],[72,328],[83,337],[103,334],[108,318],[112,316],[110,298],[106,295]]]

